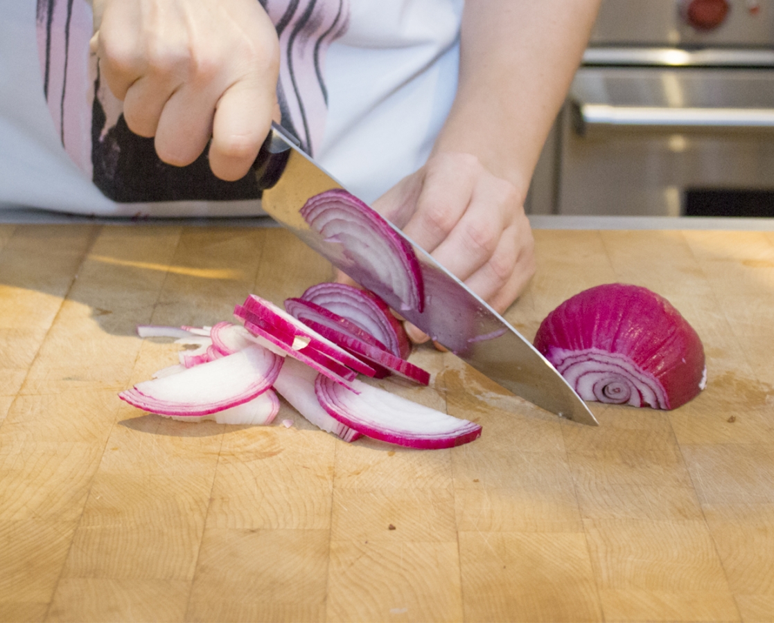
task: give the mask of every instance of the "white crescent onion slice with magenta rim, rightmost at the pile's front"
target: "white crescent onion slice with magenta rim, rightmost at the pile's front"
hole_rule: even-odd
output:
[[[323,408],[362,434],[408,448],[454,448],[481,436],[481,426],[441,413],[394,393],[353,381],[355,394],[317,376],[315,391]]]

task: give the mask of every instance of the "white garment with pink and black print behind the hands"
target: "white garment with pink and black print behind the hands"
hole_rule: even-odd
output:
[[[302,64],[310,58],[314,41],[303,36],[293,39],[293,32],[303,35],[303,29],[293,30],[293,22],[280,36],[284,55],[281,90],[284,87],[286,92],[283,123],[289,120],[294,130],[309,128],[306,133],[298,132],[310,138],[307,149],[324,169],[367,202],[418,169],[430,152],[456,91],[463,2],[317,0],[315,5],[315,0],[303,0],[301,9],[320,12],[317,22],[326,16],[329,19],[327,26],[317,26],[322,33],[319,38],[325,37],[327,44],[327,54],[326,46],[317,46],[318,52],[322,50],[323,90],[316,89],[319,83],[310,77],[310,66]],[[63,90],[63,34],[50,29],[53,35],[46,56],[46,39],[36,36],[36,4],[0,0],[0,208],[4,204],[31,206],[101,216],[260,213],[259,202],[252,199],[115,202],[104,196],[92,182],[94,166],[102,165],[93,162],[96,63],[88,54],[90,9],[85,0],[75,0],[70,15],[61,9],[54,15],[54,26],[57,20],[61,26],[67,19],[70,27],[67,88]],[[266,3],[276,24],[287,5],[288,0]],[[39,24],[38,32],[45,33],[45,27]],[[289,55],[295,55],[291,62]],[[295,101],[287,96],[291,90],[288,66],[295,70],[292,85],[299,93]],[[115,124],[120,103],[110,100],[104,85],[101,91],[108,128]],[[298,100],[306,104],[303,124]],[[63,110],[69,113],[64,123]]]

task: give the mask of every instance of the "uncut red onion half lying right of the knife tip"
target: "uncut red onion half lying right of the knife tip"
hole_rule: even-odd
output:
[[[567,299],[541,323],[535,348],[583,400],[676,409],[706,383],[693,327],[666,298],[635,285]]]

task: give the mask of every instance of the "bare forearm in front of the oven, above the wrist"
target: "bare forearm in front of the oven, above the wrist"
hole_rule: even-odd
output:
[[[526,193],[600,0],[467,0],[460,83],[435,153],[473,154]]]

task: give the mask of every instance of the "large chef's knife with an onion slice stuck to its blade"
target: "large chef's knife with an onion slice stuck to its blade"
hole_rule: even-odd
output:
[[[326,240],[300,214],[307,199],[343,186],[298,147],[298,142],[276,124],[255,161],[255,176],[263,189],[262,207],[317,253],[347,271],[341,264],[340,239]],[[406,309],[396,294],[370,281],[393,309],[446,346],[465,362],[517,396],[560,417],[583,424],[597,420],[583,400],[556,369],[502,316],[478,298],[457,277],[440,266],[430,254],[393,226],[413,247],[424,284],[423,311]]]

